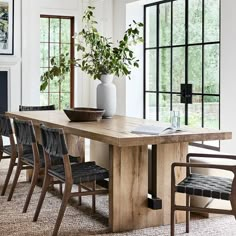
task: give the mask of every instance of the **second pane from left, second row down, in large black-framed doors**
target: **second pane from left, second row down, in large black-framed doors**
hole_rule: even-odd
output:
[[[159,53],[159,90],[170,92],[170,49],[160,49]]]

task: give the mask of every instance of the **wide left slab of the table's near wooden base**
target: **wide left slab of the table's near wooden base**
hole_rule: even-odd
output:
[[[148,208],[147,146],[110,146],[109,226],[113,232],[156,225]]]

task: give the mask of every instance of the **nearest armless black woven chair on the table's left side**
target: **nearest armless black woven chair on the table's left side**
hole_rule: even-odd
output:
[[[42,145],[45,158],[45,177],[38,206],[33,218],[37,221],[48,186],[53,178],[65,183],[64,194],[61,207],[54,227],[53,235],[57,235],[65,213],[68,200],[73,196],[92,195],[93,211],[95,211],[95,194],[108,193],[107,189],[96,190],[96,181],[104,180],[109,177],[108,171],[95,162],[83,162],[72,164],[70,162],[67,146],[65,143],[64,132],[62,129],[51,129],[44,125],[40,126]],[[62,165],[53,165],[53,159],[63,158]],[[92,182],[92,187],[83,185]],[[72,185],[77,184],[85,191],[72,192]]]

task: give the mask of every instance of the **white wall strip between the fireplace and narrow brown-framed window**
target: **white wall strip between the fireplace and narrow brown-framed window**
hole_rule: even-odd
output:
[[[15,1],[16,2],[16,1]],[[17,8],[16,8],[17,10]],[[21,59],[22,104],[39,104],[39,1],[22,0],[21,8]]]

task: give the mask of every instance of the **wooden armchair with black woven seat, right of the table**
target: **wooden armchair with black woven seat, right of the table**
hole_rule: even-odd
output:
[[[189,153],[187,155],[187,163],[173,163],[171,168],[171,236],[174,236],[175,225],[175,211],[186,211],[186,232],[189,233],[189,220],[190,212],[207,212],[217,214],[228,214],[236,216],[236,165],[224,165],[224,164],[196,164],[190,163],[191,157],[198,158],[221,158],[222,163],[225,159],[236,160],[234,155],[222,155],[222,154],[200,154]],[[186,178],[180,183],[175,183],[175,168],[185,167]],[[209,176],[196,174],[191,172],[192,167],[197,168],[212,168],[231,171],[234,174],[234,178],[225,178],[217,176]],[[186,194],[186,206],[176,205],[175,193]],[[215,208],[201,208],[190,206],[190,195],[202,196],[207,198],[215,198],[222,200],[229,200],[231,202],[232,209],[215,209]]]

